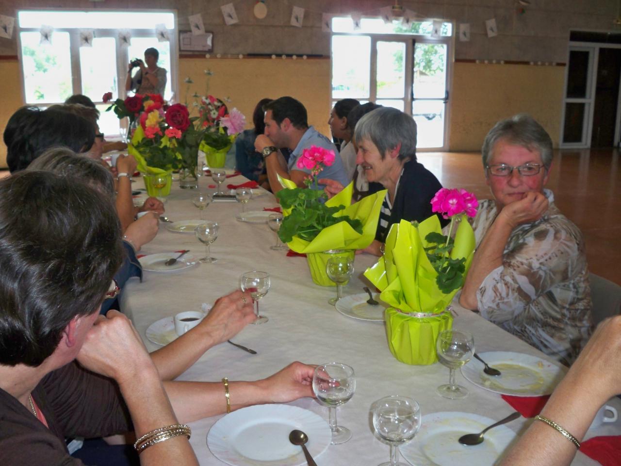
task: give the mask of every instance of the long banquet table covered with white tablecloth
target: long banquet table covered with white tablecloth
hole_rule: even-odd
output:
[[[228,178],[228,183],[242,183],[242,176]],[[207,189],[211,179],[201,178],[201,190]],[[140,187],[142,181],[134,183]],[[165,204],[166,215],[173,221],[197,219],[199,211],[191,203],[196,190],[181,190],[175,182]],[[270,193],[253,198],[247,210],[259,211],[275,207]],[[212,255],[219,260],[213,264],[198,264],[175,273],[145,272],[143,281],[131,280],[122,297],[122,309],[143,336],[149,350],[158,347],[147,340],[147,327],[158,319],[173,316],[181,311],[200,310],[202,303],[213,303],[219,296],[238,288],[243,272],[265,270],[271,276],[269,293],[260,301],[260,310],[270,318],[261,325],[249,325],[233,340],[255,349],[250,355],[224,342],[210,349],[189,368],[179,380],[219,381],[256,380],[278,371],[294,360],[307,363],[337,361],[347,363],[356,373],[356,391],[348,403],[338,408],[338,422],[352,432],[345,444],[330,445],[316,458],[322,466],[377,465],[388,460],[388,445],[373,435],[369,423],[369,406],[387,395],[410,396],[420,403],[422,414],[437,411],[463,411],[488,418],[501,419],[513,409],[500,395],[486,391],[465,380],[458,373],[458,383],[469,390],[464,400],[446,400],[435,393],[435,388],[446,383],[448,369],[440,363],[428,366],[410,366],[392,357],[383,322],[358,321],[338,313],[328,299],[335,288],[315,285],[302,257],[287,257],[284,251],[274,251],[275,235],[266,224],[250,224],[235,219],[241,211],[237,203],[212,203],[204,211],[206,219],[220,224],[220,233],[212,244]],[[196,257],[204,255],[204,246],[194,234],[170,232],[160,224],[156,238],[145,245],[140,254],[172,252],[190,249]],[[355,258],[355,278],[343,288],[344,295],[362,293],[368,282],[361,273],[376,258],[361,254]],[[363,283],[365,281],[365,283]],[[522,342],[477,314],[455,306],[453,328],[473,333],[476,350],[505,350],[545,357],[538,350]],[[232,396],[234,396],[232,394]],[[222,394],[224,406],[224,390]],[[612,403],[621,408],[620,400]],[[327,421],[327,408],[311,398],[290,403],[309,409]],[[206,435],[221,416],[191,423],[191,444],[202,466],[223,465],[207,448]],[[522,432],[531,420],[520,418],[509,429]],[[587,438],[595,435],[619,435],[621,427],[605,425],[589,431]],[[414,439],[413,442],[417,441]],[[597,465],[578,452],[573,465]]]

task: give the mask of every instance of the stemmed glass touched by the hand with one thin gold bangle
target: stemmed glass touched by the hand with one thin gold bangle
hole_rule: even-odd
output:
[[[353,368],[340,362],[329,362],[315,367],[312,390],[317,400],[328,406],[332,445],[351,439],[350,429],[337,425],[337,406],[347,403],[356,391],[356,377]]]

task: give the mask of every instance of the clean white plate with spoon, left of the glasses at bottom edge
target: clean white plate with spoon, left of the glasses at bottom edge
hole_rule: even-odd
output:
[[[289,432],[306,432],[309,453],[317,459],[332,434],[323,418],[288,404],[258,404],[220,418],[209,429],[207,446],[217,459],[232,466],[306,465],[301,447],[289,442]]]

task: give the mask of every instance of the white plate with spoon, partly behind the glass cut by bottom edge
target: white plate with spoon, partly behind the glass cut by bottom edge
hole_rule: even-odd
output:
[[[483,431],[507,414],[499,413],[498,419],[458,412],[426,414],[414,440],[399,450],[416,466],[492,466],[517,438],[509,427],[494,427],[486,432],[485,441],[479,445],[462,445],[458,439],[464,434]]]

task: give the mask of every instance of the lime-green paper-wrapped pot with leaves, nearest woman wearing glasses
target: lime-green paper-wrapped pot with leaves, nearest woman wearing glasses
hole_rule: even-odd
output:
[[[476,203],[476,198],[472,199]],[[467,211],[473,212],[476,209]],[[420,224],[402,220],[392,225],[384,256],[365,272],[366,278],[381,290],[380,298],[390,305],[386,309],[389,349],[406,364],[434,363],[438,334],[452,326],[453,318],[445,310],[463,286],[475,246],[474,232],[467,221],[460,221],[455,237],[451,237],[458,216],[463,218],[459,214],[451,216],[446,236],[437,216]]]

